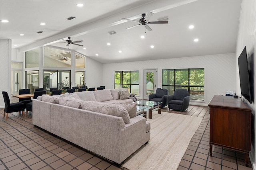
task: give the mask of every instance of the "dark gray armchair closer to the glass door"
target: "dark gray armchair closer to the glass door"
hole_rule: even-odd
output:
[[[167,89],[157,88],[155,94],[150,94],[148,96],[148,100],[154,101],[154,102],[162,102],[162,104],[160,104],[160,106],[163,108],[163,107],[167,106],[167,104],[168,104],[167,96],[169,96]]]

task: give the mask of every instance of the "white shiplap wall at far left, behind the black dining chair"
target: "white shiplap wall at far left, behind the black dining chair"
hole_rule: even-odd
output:
[[[4,107],[2,91],[11,92],[11,45],[10,39],[0,39],[0,108]]]

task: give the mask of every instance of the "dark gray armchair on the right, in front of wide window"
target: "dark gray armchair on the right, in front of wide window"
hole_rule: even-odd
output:
[[[188,109],[190,100],[188,90],[177,88],[173,95],[168,96],[167,100],[169,109],[185,111]]]

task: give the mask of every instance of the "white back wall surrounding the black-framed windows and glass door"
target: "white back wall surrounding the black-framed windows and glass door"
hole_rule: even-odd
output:
[[[235,54],[187,57],[180,59],[162,59],[128,63],[103,64],[103,84],[106,88],[114,88],[114,71],[139,70],[140,85],[143,85],[143,69],[158,69],[158,87],[162,88],[162,70],[173,68],[205,68],[205,103],[193,103],[207,106],[214,95],[225,95],[226,90],[236,89]],[[142,98],[142,86],[140,97]]]

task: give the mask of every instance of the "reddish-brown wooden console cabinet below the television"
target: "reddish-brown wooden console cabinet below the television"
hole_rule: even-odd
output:
[[[210,107],[210,156],[212,145],[245,153],[245,165],[249,166],[251,150],[252,110],[241,98],[214,96]]]

